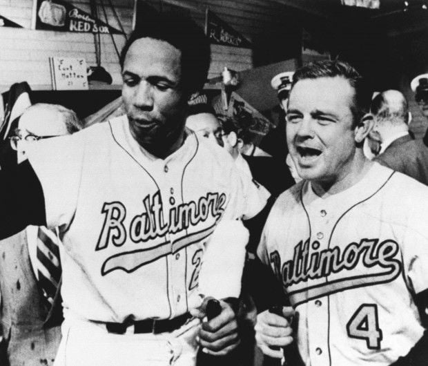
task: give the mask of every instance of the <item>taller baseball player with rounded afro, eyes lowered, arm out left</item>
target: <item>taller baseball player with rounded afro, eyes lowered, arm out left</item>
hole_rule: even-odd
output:
[[[17,171],[0,173],[0,237],[28,224],[60,230],[57,366],[194,365],[196,336],[217,354],[239,342],[228,298],[239,295],[240,278],[229,261],[242,267],[248,235],[236,219],[255,215],[265,200],[246,205],[241,193],[257,196],[257,186],[237,176],[226,151],[184,128],[209,47],[190,19],[152,17],[122,52],[126,115],[39,142]],[[28,195],[14,193],[20,182]],[[211,278],[201,289],[206,268]],[[202,329],[189,314],[201,295],[224,298]]]

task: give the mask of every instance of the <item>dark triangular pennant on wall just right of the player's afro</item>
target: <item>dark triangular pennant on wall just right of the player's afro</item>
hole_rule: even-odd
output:
[[[222,21],[222,19],[208,9],[206,10],[205,17],[205,33],[210,39],[211,44],[251,48],[251,43],[240,32],[234,30],[228,23]]]

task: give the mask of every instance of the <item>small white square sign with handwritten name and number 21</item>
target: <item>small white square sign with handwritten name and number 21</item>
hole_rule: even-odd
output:
[[[86,59],[49,57],[53,90],[87,90]]]

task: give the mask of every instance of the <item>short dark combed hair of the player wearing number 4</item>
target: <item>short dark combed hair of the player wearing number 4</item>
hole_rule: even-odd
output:
[[[366,79],[355,68],[347,64],[347,62],[338,60],[315,61],[296,70],[293,75],[291,91],[293,91],[293,87],[300,80],[319,79],[321,77],[343,77],[349,81],[349,84],[355,90],[351,112],[353,115],[353,126],[357,126],[362,117],[366,113],[369,113],[370,110],[372,91]]]

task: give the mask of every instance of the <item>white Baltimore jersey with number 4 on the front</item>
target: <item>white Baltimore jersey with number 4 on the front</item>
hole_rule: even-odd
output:
[[[257,255],[299,313],[306,365],[390,365],[415,345],[427,217],[428,187],[378,163],[335,195],[304,181],[280,195]]]

